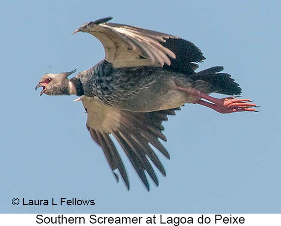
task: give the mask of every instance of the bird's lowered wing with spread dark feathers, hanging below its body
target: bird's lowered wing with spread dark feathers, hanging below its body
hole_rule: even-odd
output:
[[[175,110],[180,110],[180,108],[137,113],[106,106],[91,97],[81,96],[80,99],[88,113],[87,128],[93,139],[103,148],[117,181],[119,181],[118,176],[114,170],[118,169],[127,188],[130,189],[124,163],[109,134],[112,134],[119,142],[145,187],[150,189],[145,171],[158,186],[157,176],[148,159],[164,176],[166,176],[166,172],[149,143],[170,158],[158,138],[166,140],[162,134],[162,130],[164,130],[162,122],[168,120],[167,115],[175,115]]]

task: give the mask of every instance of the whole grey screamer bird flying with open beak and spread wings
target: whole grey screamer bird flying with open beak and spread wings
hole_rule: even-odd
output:
[[[159,185],[150,163],[166,176],[151,145],[170,159],[159,138],[162,122],[175,115],[185,103],[201,104],[219,113],[255,111],[249,99],[238,99],[239,84],[222,66],[195,72],[206,58],[193,43],[173,35],[124,24],[108,23],[112,17],[85,23],[77,32],[86,32],[103,44],[105,59],[86,71],[47,73],[39,80],[47,95],[77,95],[87,113],[87,129],[102,147],[105,158],[119,181],[117,170],[130,189],[123,160],[110,134],[121,145],[140,180],[149,191],[146,173]],[[222,93],[226,98],[209,94]],[[150,160],[150,161],[149,161]],[[146,173],[145,173],[146,172]]]

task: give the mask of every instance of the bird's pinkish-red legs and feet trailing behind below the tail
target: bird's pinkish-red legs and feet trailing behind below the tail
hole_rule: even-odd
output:
[[[177,89],[187,92],[190,95],[200,97],[200,100],[193,102],[194,104],[197,103],[206,107],[210,107],[211,109],[222,114],[232,113],[237,111],[256,111],[254,108],[251,108],[251,107],[256,107],[256,104],[248,103],[251,102],[250,99],[235,99],[235,96],[218,99],[209,96],[208,94],[205,94],[194,88],[185,89],[185,88],[177,87]],[[202,99],[206,99],[211,103],[204,101]]]

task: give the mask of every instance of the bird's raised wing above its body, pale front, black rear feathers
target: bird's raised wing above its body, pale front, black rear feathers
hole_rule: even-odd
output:
[[[139,27],[106,23],[110,19],[112,17],[85,23],[74,33],[87,32],[98,38],[105,48],[105,60],[112,63],[115,68],[145,65],[162,67],[164,64],[170,66],[177,53],[181,55],[181,59],[180,62],[174,61],[175,65],[179,63],[182,66],[205,59],[201,51],[188,41]],[[167,40],[175,40],[175,43],[173,41],[166,43]],[[181,46],[184,49],[178,49]],[[195,55],[192,51],[196,52]]]

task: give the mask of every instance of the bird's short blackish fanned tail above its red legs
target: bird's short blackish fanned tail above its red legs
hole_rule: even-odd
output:
[[[226,95],[238,95],[242,89],[239,84],[234,82],[229,74],[219,73],[223,70],[222,66],[211,67],[191,75],[195,81],[195,88],[204,93],[222,93]]]

